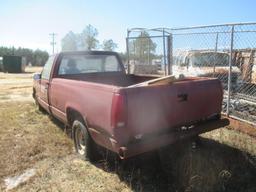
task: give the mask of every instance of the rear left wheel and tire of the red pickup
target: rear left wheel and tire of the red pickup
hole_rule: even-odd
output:
[[[85,160],[95,161],[95,143],[89,135],[86,126],[81,120],[75,120],[72,124],[72,130],[76,152]]]

